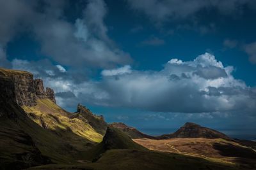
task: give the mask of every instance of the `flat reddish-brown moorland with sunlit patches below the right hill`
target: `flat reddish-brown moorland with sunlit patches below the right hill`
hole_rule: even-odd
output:
[[[134,139],[136,143],[154,151],[179,153],[200,157],[212,162],[236,164],[256,168],[256,151],[231,139],[173,138],[173,139]]]

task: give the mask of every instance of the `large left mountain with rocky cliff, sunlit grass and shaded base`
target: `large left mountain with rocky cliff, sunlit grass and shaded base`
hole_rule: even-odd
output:
[[[0,69],[0,169],[76,162],[103,136],[72,115],[33,74]]]

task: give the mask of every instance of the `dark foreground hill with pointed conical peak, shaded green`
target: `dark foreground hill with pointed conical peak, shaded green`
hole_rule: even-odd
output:
[[[95,159],[92,162],[81,161],[81,164],[49,164],[32,169],[239,169],[232,164],[211,162],[188,155],[152,152],[111,126],[108,127],[103,141],[89,150],[88,155]]]

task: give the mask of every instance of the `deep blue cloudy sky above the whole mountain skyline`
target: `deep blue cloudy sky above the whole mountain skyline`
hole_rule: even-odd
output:
[[[250,0],[0,0],[0,67],[107,122],[256,139],[255,18]]]

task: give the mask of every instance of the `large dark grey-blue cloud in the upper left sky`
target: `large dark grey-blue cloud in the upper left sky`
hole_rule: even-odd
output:
[[[103,0],[88,1],[75,22],[65,20],[68,1],[1,1],[0,43],[24,31],[35,36],[41,52],[65,66],[113,67],[131,62],[108,37]]]

